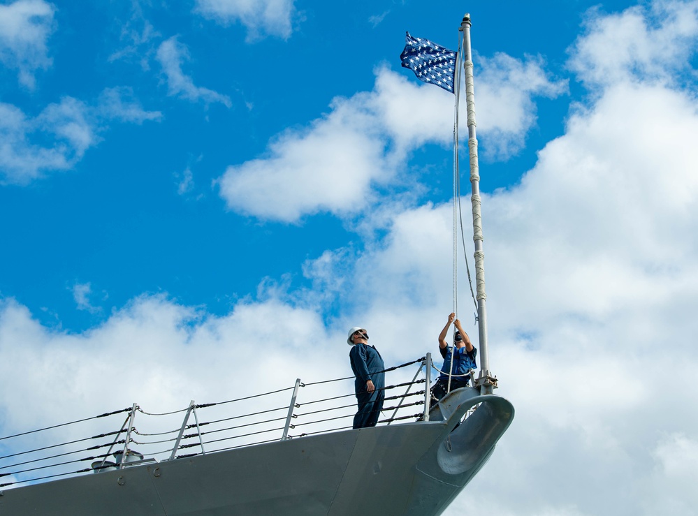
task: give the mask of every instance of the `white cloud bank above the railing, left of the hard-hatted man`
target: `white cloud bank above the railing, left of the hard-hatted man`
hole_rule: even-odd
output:
[[[192,397],[203,403],[288,388],[298,374],[305,381],[347,376],[347,363],[335,360],[337,353],[346,357],[346,344],[327,348],[328,339],[337,336],[328,337],[319,314],[274,297],[238,302],[217,317],[144,296],[80,334],[48,330],[26,307],[0,300],[0,385],[16,393],[0,403],[1,434],[134,401],[145,411],[164,412],[187,406]],[[261,387],[260,366],[277,371]],[[283,396],[287,403],[289,395]],[[137,422],[141,431],[149,424]]]

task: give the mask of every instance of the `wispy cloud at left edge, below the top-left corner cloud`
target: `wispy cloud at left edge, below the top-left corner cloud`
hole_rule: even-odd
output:
[[[45,172],[69,170],[99,143],[106,121],[117,119],[140,124],[159,120],[132,98],[130,89],[108,88],[96,103],[65,96],[47,105],[36,117],[17,106],[0,103],[0,179],[27,184]]]

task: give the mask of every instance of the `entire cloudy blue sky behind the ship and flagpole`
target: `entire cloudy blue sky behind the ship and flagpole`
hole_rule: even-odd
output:
[[[399,55],[465,12],[517,415],[451,510],[696,514],[695,1],[0,3],[0,434],[435,351],[453,96]]]

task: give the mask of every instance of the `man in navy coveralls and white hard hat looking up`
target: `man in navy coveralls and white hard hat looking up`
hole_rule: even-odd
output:
[[[362,327],[349,330],[347,344],[352,346],[349,360],[356,376],[354,390],[358,412],[354,416],[354,428],[375,427],[385,398],[383,359],[375,346],[368,345],[368,332]]]

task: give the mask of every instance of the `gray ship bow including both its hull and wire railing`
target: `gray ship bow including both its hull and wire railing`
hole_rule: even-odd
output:
[[[8,476],[19,480],[14,485],[20,487],[2,493],[0,513],[439,514],[485,464],[511,423],[514,409],[506,399],[481,396],[465,388],[449,393],[430,408],[429,420],[423,420],[423,413],[415,407],[426,401],[426,378],[418,378],[418,371],[412,381],[400,381],[405,375],[404,371],[402,376],[397,374],[397,368],[391,376],[396,381],[386,390],[398,394],[388,396],[393,398],[385,408],[390,417],[374,428],[351,429],[353,392],[335,395],[342,391],[341,387],[330,388],[335,381],[296,382],[293,388],[260,395],[263,402],[259,397],[219,404],[192,402],[182,411],[159,415],[138,412],[135,407],[115,411],[100,419],[121,414],[126,422],[120,431],[112,431],[115,435],[100,438],[109,440],[104,443],[105,453],[88,457],[94,467],[41,478],[51,468],[70,469],[71,463],[59,464],[68,463],[65,459],[73,452],[61,450],[80,448],[83,441],[40,450],[44,455],[49,450],[52,455],[68,455],[50,459],[56,465],[46,464],[44,470]],[[342,385],[340,381],[337,385]],[[321,397],[299,395],[310,388],[321,392]],[[275,399],[282,396],[286,404],[275,407]],[[257,410],[238,413],[241,404],[249,402]],[[200,419],[213,409],[233,415]],[[139,417],[163,421],[179,416],[183,422],[177,429],[137,432],[137,412]],[[87,420],[80,424],[85,423]],[[24,438],[29,436],[36,438],[36,434]],[[114,444],[119,441],[124,442]],[[134,452],[136,446],[138,452]],[[111,464],[107,459],[116,447],[126,450],[121,455],[126,459]],[[150,453],[149,447],[161,451]],[[12,459],[14,464],[30,462],[35,453],[38,451],[3,459]],[[38,478],[37,471],[41,472]],[[23,481],[25,478],[28,480]]]

